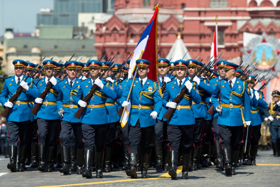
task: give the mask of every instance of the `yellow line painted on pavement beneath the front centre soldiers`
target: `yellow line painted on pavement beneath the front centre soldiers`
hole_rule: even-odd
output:
[[[180,173],[182,167],[178,167],[177,173]],[[128,181],[139,181],[139,180],[156,180],[156,179],[165,179],[170,177],[168,172],[162,174],[161,176],[149,179],[124,179],[124,180],[115,180],[115,181],[100,181],[100,182],[90,182],[90,183],[78,183],[78,184],[63,184],[63,185],[54,185],[54,186],[37,186],[37,187],[63,187],[63,186],[81,186],[81,185],[91,185],[91,184],[105,184],[105,183],[115,183],[115,182],[128,182]]]

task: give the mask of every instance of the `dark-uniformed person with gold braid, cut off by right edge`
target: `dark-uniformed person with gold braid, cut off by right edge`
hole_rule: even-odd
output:
[[[267,109],[264,110],[265,121],[270,120],[269,131],[271,136],[271,144],[275,157],[280,156],[280,92],[274,91],[272,95],[274,103],[270,103]],[[275,116],[275,117],[272,117]]]

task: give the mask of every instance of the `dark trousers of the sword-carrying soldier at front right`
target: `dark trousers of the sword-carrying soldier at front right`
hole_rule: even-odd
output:
[[[244,126],[226,126],[218,125],[220,132],[220,144],[222,149],[239,150],[239,146],[243,143]]]

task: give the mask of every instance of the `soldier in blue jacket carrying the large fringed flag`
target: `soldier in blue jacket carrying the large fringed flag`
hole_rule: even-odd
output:
[[[122,107],[129,103],[126,101],[129,90],[131,90],[131,110],[128,116],[128,137],[129,137],[129,165],[126,171],[127,176],[137,179],[138,151],[141,141],[141,178],[146,179],[150,163],[151,149],[155,142],[156,118],[162,108],[162,97],[156,82],[148,79],[147,73],[150,62],[144,59],[136,60],[137,73],[139,78],[135,79],[131,88],[132,79],[129,79],[124,88],[121,102]]]

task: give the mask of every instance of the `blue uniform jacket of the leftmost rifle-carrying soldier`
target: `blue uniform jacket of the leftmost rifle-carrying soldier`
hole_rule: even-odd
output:
[[[25,79],[26,76],[23,76]],[[22,80],[23,81],[23,80]],[[31,102],[34,98],[37,98],[40,95],[40,91],[34,86],[33,79],[28,78],[26,80],[28,83],[29,89],[28,91],[22,89],[16,101],[27,101]],[[0,102],[4,107],[4,104],[8,101],[8,99],[15,93],[17,90],[17,82],[15,76],[9,77],[5,80],[2,92],[0,94]],[[6,108],[6,107],[4,107]],[[30,115],[30,111],[32,108],[32,104],[14,104],[13,108],[10,109],[10,112],[7,115],[7,121],[13,122],[24,122],[31,120],[33,117]]]

